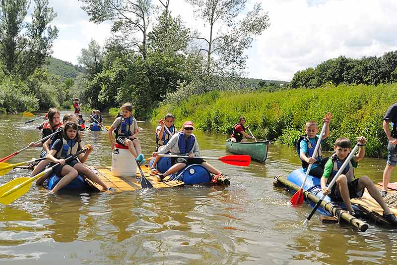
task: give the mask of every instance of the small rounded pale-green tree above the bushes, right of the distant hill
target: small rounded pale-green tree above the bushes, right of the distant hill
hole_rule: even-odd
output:
[[[77,57],[78,63],[85,67],[91,79],[102,71],[103,60],[102,48],[95,40],[91,40],[87,49],[81,49],[81,55]]]

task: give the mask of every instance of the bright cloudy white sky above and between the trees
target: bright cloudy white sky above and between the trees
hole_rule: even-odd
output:
[[[155,4],[157,0],[153,0]],[[248,77],[290,81],[296,71],[345,55],[382,55],[397,50],[396,0],[259,0],[268,11],[270,27],[247,51]],[[254,3],[248,0],[248,8]],[[77,63],[91,39],[103,45],[109,24],[89,22],[77,0],[50,0],[60,30],[53,56]],[[171,0],[173,15],[204,32],[184,0]]]

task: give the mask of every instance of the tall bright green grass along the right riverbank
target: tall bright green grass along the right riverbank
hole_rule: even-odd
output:
[[[294,145],[304,134],[308,120],[319,122],[330,111],[330,136],[323,150],[331,150],[336,138],[344,136],[355,143],[357,136],[368,139],[367,156],[385,157],[387,137],[383,116],[397,101],[397,84],[379,86],[339,85],[317,89],[293,89],[268,92],[218,92],[195,95],[176,105],[164,105],[153,111],[160,119],[167,112],[176,116],[176,125],[192,120],[198,129],[231,134],[240,116],[257,138]]]

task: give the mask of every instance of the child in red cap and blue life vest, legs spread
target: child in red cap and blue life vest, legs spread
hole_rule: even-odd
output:
[[[209,172],[215,174],[212,178],[213,182],[221,182],[223,184],[229,184],[229,180],[220,172],[218,169],[207,163],[205,160],[199,158],[199,143],[197,142],[196,136],[192,133],[194,130],[194,124],[192,121],[185,121],[182,127],[182,131],[174,134],[174,136],[168,141],[168,143],[158,152],[153,152],[153,157],[156,158],[158,155],[162,155],[171,151],[172,155],[177,156],[188,156],[189,158],[172,158],[172,166],[163,174],[157,175],[157,180],[163,181],[163,179],[179,170],[183,169],[187,165],[201,164],[208,169]]]

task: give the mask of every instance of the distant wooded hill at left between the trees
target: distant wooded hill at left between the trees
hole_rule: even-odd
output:
[[[51,74],[59,76],[62,80],[75,78],[79,73],[85,73],[84,68],[71,64],[57,58],[48,57],[48,64],[43,67]]]

